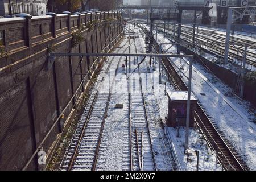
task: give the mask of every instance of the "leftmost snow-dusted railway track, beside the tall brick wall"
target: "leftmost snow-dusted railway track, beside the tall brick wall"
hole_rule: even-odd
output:
[[[105,74],[109,75],[111,69],[115,69],[115,74],[117,73],[121,57],[117,63],[114,61],[115,64],[113,64],[113,60],[114,57],[110,60]],[[101,143],[101,138],[104,130],[106,114],[108,112],[110,97],[112,96],[111,89],[113,88],[113,83],[114,80],[111,82],[111,87],[108,93],[101,90],[102,85],[104,85],[104,75],[102,76],[100,83],[96,84],[96,89],[94,89],[91,94],[88,107],[86,107],[84,114],[82,114],[79,126],[77,126],[77,130],[64,156],[60,169],[96,169],[99,148],[100,146],[105,145],[105,143]]]

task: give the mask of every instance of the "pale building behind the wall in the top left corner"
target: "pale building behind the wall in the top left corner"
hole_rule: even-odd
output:
[[[18,13],[27,13],[33,16],[46,14],[46,5],[48,0],[0,0],[0,15],[10,16]],[[10,13],[11,6],[11,13]]]

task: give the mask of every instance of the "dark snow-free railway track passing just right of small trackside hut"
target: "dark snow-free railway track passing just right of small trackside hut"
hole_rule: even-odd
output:
[[[149,35],[149,31],[146,28],[144,28],[143,31]],[[155,51],[158,52],[159,45],[155,40],[153,47]],[[163,67],[167,72],[167,75],[171,78],[171,82],[176,90],[188,90],[187,85],[185,85],[184,81],[180,78],[171,61],[169,61],[167,57],[163,57],[162,61]],[[221,164],[222,169],[246,170],[246,164],[242,161],[240,155],[234,150],[232,144],[225,139],[225,135],[217,128],[217,125],[207,111],[204,110],[204,107],[200,102],[197,104],[194,112],[196,124],[205,140],[207,140],[209,146],[216,152],[218,162]]]

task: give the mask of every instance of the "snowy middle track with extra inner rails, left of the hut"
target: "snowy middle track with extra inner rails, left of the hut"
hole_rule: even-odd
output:
[[[135,52],[137,53],[135,39],[134,45]],[[140,46],[140,49],[141,48],[142,47]],[[134,61],[136,64],[139,64],[138,57],[134,57]],[[130,80],[130,78],[127,80],[129,92],[130,168],[135,171],[154,171],[156,170],[156,164],[154,152],[152,150],[148,115],[139,72],[140,70],[138,67],[139,80],[135,80],[135,78],[133,80]],[[132,90],[130,89],[131,85],[133,87]]]

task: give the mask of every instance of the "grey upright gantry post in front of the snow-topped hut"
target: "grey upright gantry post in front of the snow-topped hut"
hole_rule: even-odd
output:
[[[189,117],[190,117],[190,96],[191,96],[192,64],[193,64],[192,59],[189,59],[188,101],[187,101],[185,149],[188,148],[188,128],[189,128]]]

